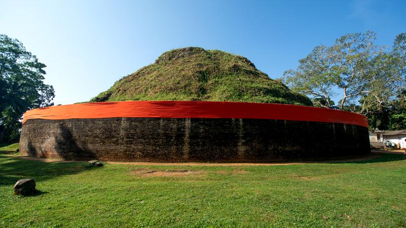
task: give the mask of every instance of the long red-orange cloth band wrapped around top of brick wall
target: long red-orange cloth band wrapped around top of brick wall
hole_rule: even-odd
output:
[[[365,116],[348,111],[290,104],[223,101],[118,101],[58,105],[26,111],[23,123],[30,119],[114,117],[271,119],[368,126]]]

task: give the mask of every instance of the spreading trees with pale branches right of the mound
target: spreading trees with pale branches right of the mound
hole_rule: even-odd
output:
[[[390,48],[375,45],[375,39],[371,31],[350,33],[332,46],[317,46],[281,80],[315,106],[367,116],[369,128],[406,129],[406,33]],[[338,104],[332,101],[336,96]]]

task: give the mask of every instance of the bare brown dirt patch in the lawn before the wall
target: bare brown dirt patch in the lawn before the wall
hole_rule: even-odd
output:
[[[186,170],[186,169],[165,169],[165,170],[151,170],[151,169],[136,169],[131,172],[133,175],[145,177],[182,177],[189,175],[199,175],[204,173],[201,170]]]

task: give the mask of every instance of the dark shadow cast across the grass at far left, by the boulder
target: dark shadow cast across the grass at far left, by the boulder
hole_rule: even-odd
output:
[[[19,179],[31,178],[36,182],[57,176],[87,171],[84,162],[44,162],[6,155],[0,151],[0,186],[14,185]],[[38,194],[46,194],[39,192]]]

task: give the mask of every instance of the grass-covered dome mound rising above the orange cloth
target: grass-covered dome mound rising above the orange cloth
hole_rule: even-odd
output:
[[[90,101],[125,100],[312,105],[307,96],[270,79],[245,57],[193,47],[163,53],[155,63],[120,79]]]

